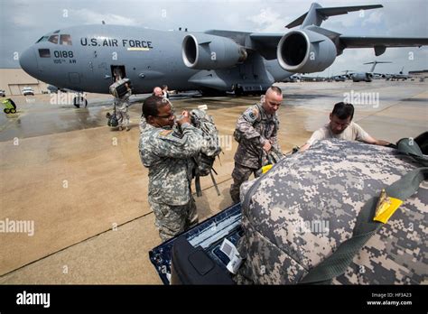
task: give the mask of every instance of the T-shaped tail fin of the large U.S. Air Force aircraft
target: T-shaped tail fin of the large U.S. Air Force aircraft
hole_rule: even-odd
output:
[[[292,23],[289,23],[286,28],[293,28],[298,25],[303,27],[309,25],[320,26],[321,23],[329,18],[329,16],[348,14],[353,11],[371,10],[383,7],[383,5],[355,5],[355,6],[334,6],[322,7],[317,3],[313,3],[311,8],[305,14],[302,14]]]

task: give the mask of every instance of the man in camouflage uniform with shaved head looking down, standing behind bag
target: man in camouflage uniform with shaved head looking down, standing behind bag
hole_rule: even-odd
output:
[[[272,152],[282,154],[277,143],[279,121],[276,115],[282,101],[281,88],[268,88],[260,104],[250,106],[237,120],[234,136],[239,145],[232,172],[233,184],[230,186],[230,196],[234,203],[239,202],[239,187],[242,182],[264,166],[264,158]]]

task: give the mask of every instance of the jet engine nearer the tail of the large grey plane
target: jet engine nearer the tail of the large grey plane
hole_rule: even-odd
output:
[[[337,51],[330,38],[309,30],[287,32],[278,43],[276,56],[290,72],[320,72],[330,67]]]

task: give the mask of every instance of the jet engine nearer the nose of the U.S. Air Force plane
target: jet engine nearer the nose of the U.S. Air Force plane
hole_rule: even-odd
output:
[[[226,69],[247,60],[244,47],[229,38],[191,34],[181,45],[182,60],[191,69]]]

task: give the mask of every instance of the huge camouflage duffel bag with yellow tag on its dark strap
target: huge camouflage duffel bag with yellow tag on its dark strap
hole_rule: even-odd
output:
[[[236,281],[427,283],[427,178],[421,161],[358,142],[284,158],[241,187]]]

